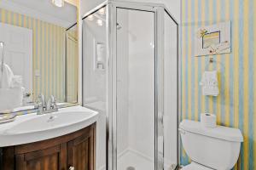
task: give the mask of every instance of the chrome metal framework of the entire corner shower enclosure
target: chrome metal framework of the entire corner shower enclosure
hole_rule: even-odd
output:
[[[179,59],[178,59],[178,24],[177,20],[172,17],[172,14],[168,11],[164,4],[160,3],[134,3],[134,2],[123,2],[119,0],[108,0],[96,8],[90,10],[90,12],[84,14],[82,20],[84,20],[90,14],[95,13],[100,8],[106,6],[107,16],[107,60],[108,60],[108,82],[107,82],[107,167],[108,170],[117,170],[117,44],[116,44],[116,24],[117,24],[117,8],[126,8],[132,10],[140,10],[154,13],[154,41],[155,41],[155,54],[154,54],[154,169],[163,170],[164,169],[164,148],[159,148],[159,118],[163,119],[164,114],[164,77],[163,77],[163,56],[164,56],[164,14],[165,12],[171,17],[174,23],[177,25],[177,88],[179,85]],[[83,22],[82,22],[83,25]],[[82,32],[83,33],[83,32]],[[82,54],[83,55],[83,54]],[[83,57],[82,57],[83,58]],[[83,72],[83,71],[82,71]],[[82,73],[83,74],[83,73]],[[83,75],[82,75],[83,77]],[[177,89],[177,126],[178,126],[178,102],[179,88]],[[162,123],[163,120],[160,120]],[[162,125],[162,124],[161,124]],[[178,134],[178,132],[177,132]],[[177,137],[178,142],[178,137]],[[178,147],[177,143],[177,147]],[[178,149],[177,149],[178,150]],[[178,151],[177,151],[177,166],[178,161]]]

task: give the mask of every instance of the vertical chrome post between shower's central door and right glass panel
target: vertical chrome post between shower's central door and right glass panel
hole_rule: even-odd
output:
[[[164,117],[164,8],[157,7],[155,12],[155,115],[154,115],[154,169],[164,169],[164,148],[159,148],[160,132],[163,129]],[[160,124],[159,124],[160,122]],[[164,146],[164,144],[162,144]]]

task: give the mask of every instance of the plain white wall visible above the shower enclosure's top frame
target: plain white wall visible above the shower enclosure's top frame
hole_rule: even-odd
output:
[[[96,8],[97,5],[103,3],[105,0],[80,0],[81,11],[80,14],[84,15],[92,8]],[[181,1],[180,0],[127,0],[133,2],[146,2],[146,3],[164,3],[166,8],[170,10],[173,17],[180,22],[180,8],[181,8]]]

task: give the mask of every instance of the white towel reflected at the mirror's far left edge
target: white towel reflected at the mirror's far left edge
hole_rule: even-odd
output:
[[[14,73],[9,65],[3,64],[3,68],[0,65],[0,88],[10,88],[13,77]]]

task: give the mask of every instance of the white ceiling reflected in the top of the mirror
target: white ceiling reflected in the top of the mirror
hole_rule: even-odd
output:
[[[63,27],[72,26],[77,21],[77,8],[66,2],[64,7],[58,8],[51,0],[2,0],[0,8]]]

